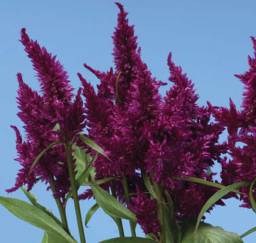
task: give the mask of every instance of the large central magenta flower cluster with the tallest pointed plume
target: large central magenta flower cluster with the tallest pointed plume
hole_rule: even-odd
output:
[[[150,180],[156,180],[176,202],[176,219],[197,217],[207,199],[217,190],[175,178],[197,177],[213,181],[213,174],[208,175],[207,170],[214,160],[221,162],[221,154],[227,151],[226,143],[218,143],[223,126],[210,123],[211,106],[205,108],[196,104],[198,96],[191,80],[171,61],[171,53],[168,66],[173,86],[166,97],[161,97],[158,88],[166,83],[151,77],[146,64],[141,61],[134,26],[128,25],[127,12],[121,4],[117,5],[120,13],[112,37],[115,71],[111,68],[110,72],[99,72],[85,64],[85,68],[101,82],[97,94],[78,74],[86,99],[88,136],[111,159],[102,156],[95,161],[95,179],[131,177],[137,171],[145,171]],[[156,210],[145,208],[145,202],[152,208],[157,207],[156,202],[143,193],[145,188],[138,186],[140,180],[142,178],[137,177],[136,182],[133,180],[129,184],[130,193],[137,187],[137,196],[132,197],[129,205],[143,230],[157,237],[159,222],[152,221]],[[119,183],[110,182],[102,187],[107,189],[110,184],[119,196],[123,196]],[[86,195],[90,193],[86,191],[83,198]],[[221,200],[217,204],[224,205]],[[141,214],[144,217],[140,217]]]

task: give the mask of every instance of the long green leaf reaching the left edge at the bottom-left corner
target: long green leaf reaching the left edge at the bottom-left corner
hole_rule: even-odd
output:
[[[68,243],[77,243],[52,217],[38,207],[20,199],[3,196],[0,196],[0,203],[19,219],[59,236]]]

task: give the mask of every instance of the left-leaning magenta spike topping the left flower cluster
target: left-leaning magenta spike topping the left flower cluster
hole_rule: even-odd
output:
[[[25,28],[21,31],[21,42],[33,63],[34,70],[37,71],[45,106],[48,109],[52,107],[55,117],[62,119],[63,112],[70,108],[73,97],[73,88],[69,85],[67,72],[63,70],[59,61],[55,61],[56,56],[51,57],[44,47],[40,48],[37,41],[29,39]]]

